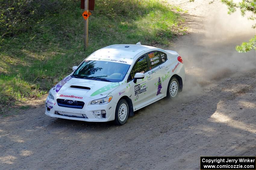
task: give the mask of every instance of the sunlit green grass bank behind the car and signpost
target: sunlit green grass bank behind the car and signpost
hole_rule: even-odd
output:
[[[83,49],[80,1],[67,1],[42,24],[0,42],[0,108],[41,97],[89,54],[111,44],[141,41],[167,47],[186,31],[176,8],[157,0],[97,0]],[[49,22],[46,22],[48,21]],[[44,21],[44,22],[43,22]]]

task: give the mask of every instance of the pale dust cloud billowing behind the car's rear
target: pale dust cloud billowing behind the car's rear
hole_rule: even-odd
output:
[[[186,70],[183,97],[194,96],[204,86],[229,79],[234,73],[256,68],[255,50],[238,53],[235,49],[255,36],[254,21],[247,19],[250,14],[242,17],[237,10],[229,15],[226,5],[217,2],[208,6],[204,16],[184,14],[191,33],[180,37],[174,47],[182,56]],[[200,10],[200,6],[194,10]]]

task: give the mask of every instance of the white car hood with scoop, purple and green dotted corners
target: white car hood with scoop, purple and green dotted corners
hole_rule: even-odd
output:
[[[107,94],[116,89],[118,86],[118,82],[77,79],[68,76],[54,86],[52,93],[98,99],[107,96]]]

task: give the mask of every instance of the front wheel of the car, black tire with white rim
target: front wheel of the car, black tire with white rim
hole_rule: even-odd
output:
[[[126,100],[121,99],[117,103],[115,112],[115,124],[123,125],[127,121],[129,116],[129,105]]]

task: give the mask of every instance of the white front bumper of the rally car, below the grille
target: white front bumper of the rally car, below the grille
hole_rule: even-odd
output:
[[[84,102],[85,105],[83,109],[74,109],[58,106],[56,99],[52,100],[47,97],[45,102],[45,114],[54,118],[88,122],[107,122],[115,119],[116,103],[113,101],[103,105],[91,105],[89,101]],[[101,110],[105,110],[106,114],[102,116]]]

